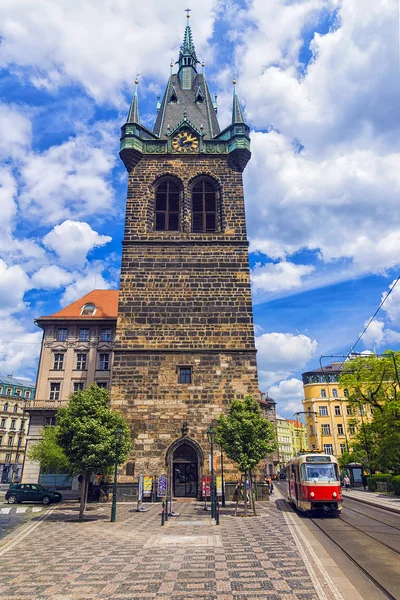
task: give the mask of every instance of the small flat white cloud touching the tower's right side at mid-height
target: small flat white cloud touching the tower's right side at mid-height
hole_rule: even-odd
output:
[[[265,290],[277,292],[291,290],[299,287],[304,275],[314,271],[312,265],[296,265],[282,261],[277,264],[268,263],[264,266],[256,265],[251,273],[254,292]]]

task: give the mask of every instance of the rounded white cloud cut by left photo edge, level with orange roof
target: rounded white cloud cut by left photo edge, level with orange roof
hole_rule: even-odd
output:
[[[29,277],[19,265],[8,266],[0,258],[0,317],[25,307],[23,297],[29,286]]]

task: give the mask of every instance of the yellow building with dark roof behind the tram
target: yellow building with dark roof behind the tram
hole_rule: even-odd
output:
[[[371,419],[372,407],[355,408],[339,386],[341,362],[303,373],[308,450],[340,457],[351,449],[357,429]]]

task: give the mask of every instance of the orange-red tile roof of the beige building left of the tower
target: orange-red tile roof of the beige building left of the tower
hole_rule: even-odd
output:
[[[72,304],[68,304],[61,310],[40,319],[116,319],[118,316],[118,294],[119,290],[92,290],[86,296],[82,296]],[[92,315],[81,315],[85,304],[94,304],[96,312]],[[38,319],[38,320],[40,320]]]

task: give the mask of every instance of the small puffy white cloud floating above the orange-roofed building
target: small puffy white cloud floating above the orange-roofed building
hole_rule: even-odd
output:
[[[110,236],[94,231],[88,223],[67,220],[45,235],[43,243],[58,254],[64,265],[83,266],[90,250],[111,240]]]

